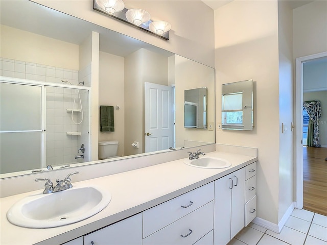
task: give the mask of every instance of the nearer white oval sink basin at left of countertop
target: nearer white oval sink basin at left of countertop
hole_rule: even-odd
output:
[[[73,187],[21,199],[9,209],[7,218],[14,225],[29,228],[64,226],[97,214],[110,200],[111,194],[101,187]]]

